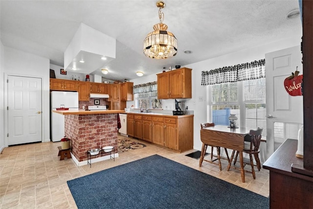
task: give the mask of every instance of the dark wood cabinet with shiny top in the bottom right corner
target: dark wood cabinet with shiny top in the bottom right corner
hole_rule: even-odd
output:
[[[263,164],[269,170],[269,208],[313,207],[313,177],[291,170],[292,164],[303,164],[295,156],[297,144],[287,139]]]

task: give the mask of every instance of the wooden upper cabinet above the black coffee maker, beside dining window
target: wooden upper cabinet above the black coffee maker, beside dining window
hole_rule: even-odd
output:
[[[157,98],[191,98],[191,70],[182,68],[157,74]]]

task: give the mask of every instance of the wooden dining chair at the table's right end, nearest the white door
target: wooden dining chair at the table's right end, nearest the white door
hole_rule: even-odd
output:
[[[261,162],[260,162],[260,158],[259,158],[259,153],[260,153],[260,143],[261,143],[261,138],[262,138],[262,132],[263,132],[263,128],[258,128],[257,130],[250,130],[249,134],[245,136],[245,141],[249,142],[249,143],[245,143],[245,148],[243,150],[243,152],[249,154],[249,158],[250,158],[250,163],[244,163],[244,166],[246,164],[250,164],[251,165],[251,173],[253,176],[253,179],[255,179],[255,171],[254,171],[254,163],[253,163],[253,158],[252,155],[255,158],[255,162],[256,162],[256,166],[258,168],[258,170],[261,169]],[[235,150],[233,151],[233,153],[235,152]],[[237,161],[237,157],[238,157],[238,151],[236,153],[236,157],[234,159],[234,164]],[[233,154],[231,156],[231,158],[233,157]],[[245,170],[246,171],[246,170]],[[249,171],[246,171],[249,172]]]

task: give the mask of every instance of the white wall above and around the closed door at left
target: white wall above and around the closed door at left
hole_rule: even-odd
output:
[[[50,61],[47,58],[26,53],[14,48],[4,46],[3,50],[4,80],[8,75],[37,77],[42,79],[42,117],[43,117],[43,141],[50,141],[50,87],[49,77]],[[2,79],[3,80],[3,79]],[[7,88],[4,88],[3,100],[6,97]],[[1,114],[3,111],[1,111]],[[5,110],[4,110],[5,114]],[[3,136],[3,135],[2,135]]]

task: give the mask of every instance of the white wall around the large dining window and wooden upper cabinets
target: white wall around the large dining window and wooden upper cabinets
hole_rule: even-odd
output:
[[[295,36],[289,39],[281,40],[279,42],[268,43],[234,53],[225,54],[223,56],[208,59],[198,63],[193,63],[187,66],[182,66],[192,69],[192,98],[187,99],[185,101],[185,105],[188,106],[189,110],[194,111],[194,149],[201,150],[202,142],[200,139],[200,123],[207,122],[207,92],[206,86],[201,86],[201,71],[265,59],[265,54],[268,52],[277,51],[291,46],[298,46],[300,43],[301,36]],[[134,82],[134,85],[136,85],[156,80],[156,75],[149,75],[134,79],[132,82]],[[203,101],[199,101],[199,97],[203,97]],[[172,103],[174,104],[174,99],[167,100],[162,100],[163,107],[166,105],[170,106]],[[132,103],[128,102],[127,106],[130,105],[132,105]],[[261,148],[264,148],[266,151],[266,146],[261,146]]]

